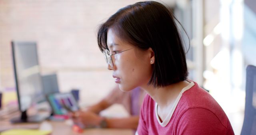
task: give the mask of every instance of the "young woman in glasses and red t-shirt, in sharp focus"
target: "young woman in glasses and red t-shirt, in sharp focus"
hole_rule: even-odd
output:
[[[122,91],[139,86],[148,93],[137,134],[234,135],[220,105],[187,79],[180,34],[162,4],[121,8],[100,26],[98,46]]]

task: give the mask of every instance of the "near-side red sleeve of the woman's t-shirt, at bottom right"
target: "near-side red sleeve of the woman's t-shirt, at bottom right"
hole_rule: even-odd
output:
[[[212,111],[192,108],[181,116],[177,135],[234,135],[234,132],[228,133],[228,127]]]

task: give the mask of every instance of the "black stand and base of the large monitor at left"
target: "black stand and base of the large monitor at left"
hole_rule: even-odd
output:
[[[28,116],[26,111],[22,111],[20,117],[10,119],[11,123],[40,123],[44,120],[45,117],[42,117],[41,115]]]

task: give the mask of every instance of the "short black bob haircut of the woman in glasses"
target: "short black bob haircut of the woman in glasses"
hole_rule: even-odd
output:
[[[164,87],[188,76],[186,56],[174,16],[155,1],[137,2],[118,10],[98,29],[98,46],[108,49],[107,33],[112,28],[118,38],[155,55],[149,84]]]

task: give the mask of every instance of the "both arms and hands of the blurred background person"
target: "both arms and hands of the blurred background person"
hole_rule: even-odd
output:
[[[114,103],[121,103],[124,101],[127,94],[120,91],[118,85],[102,99],[100,102],[88,107],[85,111],[78,111],[76,114],[77,118],[74,122],[81,122],[85,127],[100,127],[100,123],[104,120],[106,122],[107,128],[132,128],[136,129],[138,126],[139,116],[130,116],[124,118],[104,118],[99,115],[100,111],[110,107]]]

